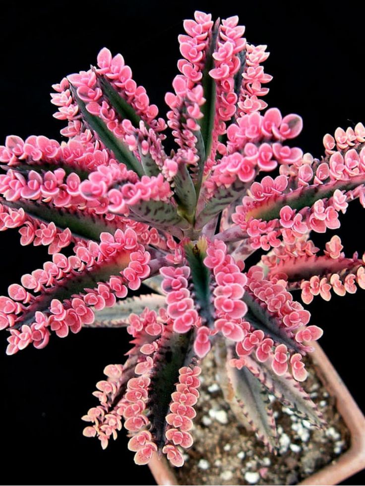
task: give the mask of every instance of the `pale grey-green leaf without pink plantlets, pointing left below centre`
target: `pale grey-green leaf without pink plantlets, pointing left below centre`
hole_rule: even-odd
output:
[[[165,307],[165,301],[165,297],[158,294],[128,297],[118,301],[113,307],[95,311],[94,323],[85,324],[85,327],[125,327],[129,324],[130,314],[141,314],[146,307],[158,313],[159,309]]]

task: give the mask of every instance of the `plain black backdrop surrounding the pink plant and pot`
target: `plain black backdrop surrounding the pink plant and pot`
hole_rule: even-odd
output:
[[[51,84],[95,64],[104,46],[123,54],[133,78],[164,114],[164,93],[172,90],[181,57],[177,36],[183,33],[183,19],[192,18],[195,9],[215,18],[239,14],[247,40],[268,45],[271,55],[264,66],[274,79],[266,101],[283,114],[303,116],[297,143],[304,152],[319,157],[325,133],[365,121],[364,6],[350,9],[345,2],[336,9],[332,2],[277,1],[54,4],[2,7],[0,143],[7,134],[61,140],[63,124],[52,117],[55,107],[49,102]],[[346,253],[362,254],[365,213],[357,201],[341,221],[337,233]],[[315,235],[314,241],[323,245],[332,234]],[[0,248],[0,294],[49,259],[43,247],[21,247],[17,230],[1,235]],[[317,298],[308,308],[311,323],[324,329],[322,347],[364,411],[363,291],[333,296],[329,303]],[[96,405],[91,392],[104,367],[123,361],[128,349],[124,331],[83,330],[63,340],[53,336],[46,349],[29,346],[12,357],[5,356],[7,336],[1,335],[2,461],[16,484],[152,484],[148,469],[134,465],[124,432],[106,451],[97,439],[81,434],[80,417]],[[125,480],[126,474],[131,476]],[[342,484],[364,480],[359,473]]]

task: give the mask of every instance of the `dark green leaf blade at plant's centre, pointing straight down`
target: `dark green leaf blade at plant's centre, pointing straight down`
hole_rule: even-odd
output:
[[[210,327],[214,325],[214,307],[211,302],[211,274],[203,261],[206,257],[206,240],[200,239],[197,244],[188,243],[184,246],[185,257],[191,270],[194,285],[194,299],[198,304],[202,317]]]

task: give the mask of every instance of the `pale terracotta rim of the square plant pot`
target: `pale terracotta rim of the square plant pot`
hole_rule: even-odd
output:
[[[365,417],[333,368],[322,348],[314,343],[311,354],[317,374],[330,395],[336,397],[337,410],[350,431],[350,448],[335,462],[308,476],[299,485],[337,485],[365,468]],[[178,485],[173,469],[165,456],[156,453],[149,468],[158,485]]]

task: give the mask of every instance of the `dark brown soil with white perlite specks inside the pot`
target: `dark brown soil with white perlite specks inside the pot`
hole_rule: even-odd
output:
[[[185,465],[176,468],[181,485],[295,485],[342,454],[349,447],[349,432],[310,363],[305,390],[328,423],[325,430],[310,424],[273,401],[280,449],[270,454],[240,425],[215,376],[212,359],[203,361],[202,385],[194,419],[194,445]]]

